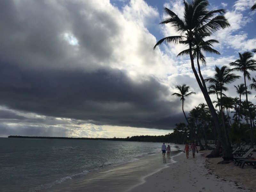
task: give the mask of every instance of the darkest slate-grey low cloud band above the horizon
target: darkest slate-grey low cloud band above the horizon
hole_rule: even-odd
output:
[[[0,105],[12,109],[99,125],[170,129],[182,121],[170,117],[180,103],[161,100],[170,93],[153,77],[137,83],[120,70],[22,70],[10,64],[0,71]]]

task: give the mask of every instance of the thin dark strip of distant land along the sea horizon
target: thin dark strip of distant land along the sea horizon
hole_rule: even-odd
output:
[[[116,141],[144,141],[144,142],[173,142],[171,135],[140,135],[126,138],[92,138],[92,137],[42,137],[42,136],[20,136],[10,135],[8,138],[26,138],[26,139],[75,139],[75,140],[116,140]]]

